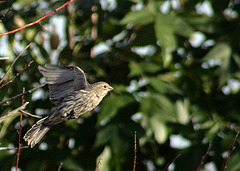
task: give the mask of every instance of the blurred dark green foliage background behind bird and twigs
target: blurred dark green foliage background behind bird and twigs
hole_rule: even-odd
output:
[[[37,21],[67,1],[0,2],[0,34]],[[76,0],[24,30],[0,37],[0,76],[29,44],[3,83],[0,101],[44,83],[38,65],[76,65],[90,83],[114,87],[99,107],[53,127],[19,170],[222,170],[239,130],[239,0]],[[2,83],[2,84],[3,84]],[[24,96],[26,111],[46,115],[48,87]],[[21,98],[0,106],[1,116]],[[0,147],[17,147],[19,115],[0,125]],[[22,134],[37,121],[23,116]],[[22,145],[26,143],[21,139]],[[226,170],[240,170],[237,139]],[[15,170],[16,150],[0,151]]]

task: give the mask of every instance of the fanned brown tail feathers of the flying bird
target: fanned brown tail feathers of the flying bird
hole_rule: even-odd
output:
[[[44,124],[44,122],[46,123],[47,120],[48,116],[39,120],[24,135],[23,139],[28,143],[31,148],[33,148],[51,128],[49,124]]]

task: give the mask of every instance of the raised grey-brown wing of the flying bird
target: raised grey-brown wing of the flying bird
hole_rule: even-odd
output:
[[[88,86],[83,70],[78,67],[46,64],[38,69],[49,84],[50,100],[55,104],[60,103],[74,90],[85,89]]]

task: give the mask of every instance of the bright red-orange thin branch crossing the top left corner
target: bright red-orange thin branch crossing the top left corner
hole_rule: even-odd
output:
[[[32,22],[32,23],[29,23],[29,24],[27,24],[27,25],[25,25],[25,26],[23,26],[23,27],[18,28],[18,29],[15,29],[15,30],[12,30],[12,31],[9,31],[9,32],[6,32],[6,33],[2,33],[2,34],[0,34],[0,36],[4,36],[4,35],[7,35],[7,34],[12,34],[12,33],[18,32],[18,31],[20,31],[20,30],[23,30],[23,29],[25,29],[25,28],[27,28],[27,27],[33,26],[33,25],[35,25],[35,24],[38,24],[40,21],[44,20],[45,18],[49,17],[50,15],[54,14],[55,12],[59,11],[60,9],[62,9],[63,7],[65,7],[65,6],[68,5],[70,2],[73,2],[73,1],[75,1],[75,0],[69,0],[69,1],[67,1],[65,4],[63,4],[62,6],[60,6],[59,8],[57,8],[56,10],[54,10],[54,11],[50,12],[49,14],[43,16],[42,18],[38,19],[37,21],[34,21],[34,22]]]

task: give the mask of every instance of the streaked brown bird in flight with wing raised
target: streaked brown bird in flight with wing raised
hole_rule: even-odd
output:
[[[24,135],[23,139],[31,148],[52,126],[92,111],[113,90],[106,82],[88,83],[84,71],[77,66],[45,64],[38,69],[46,78],[50,100],[55,106]]]

